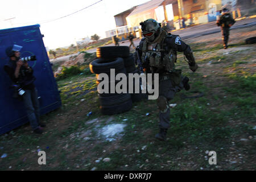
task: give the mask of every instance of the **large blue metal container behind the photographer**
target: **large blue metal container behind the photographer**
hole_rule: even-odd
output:
[[[34,69],[36,77],[34,84],[40,97],[40,114],[46,114],[61,106],[59,90],[39,27],[39,24],[35,24],[0,30],[0,135],[28,122],[23,102],[13,98],[11,80],[3,69],[9,61],[5,53],[8,46],[23,46],[21,57],[36,56],[37,60],[28,61],[28,64]]]

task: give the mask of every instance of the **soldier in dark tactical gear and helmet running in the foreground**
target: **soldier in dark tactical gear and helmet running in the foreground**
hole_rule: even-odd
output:
[[[137,49],[141,56],[142,67],[146,68],[146,73],[159,73],[158,107],[160,109],[160,132],[155,137],[160,140],[166,140],[167,129],[170,127],[168,101],[172,100],[175,93],[181,89],[189,89],[188,77],[182,77],[181,70],[175,69],[177,51],[184,52],[189,61],[189,68],[193,72],[196,71],[197,64],[191,48],[178,35],[167,34],[155,22],[156,20],[154,19],[148,19],[141,23],[142,33],[145,38],[141,40]],[[151,32],[155,34],[155,38],[151,38],[153,36]],[[150,35],[150,38],[147,35]]]

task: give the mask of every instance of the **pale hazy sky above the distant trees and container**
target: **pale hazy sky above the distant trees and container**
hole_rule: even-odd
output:
[[[1,0],[0,29],[40,24],[46,47],[53,49],[70,46],[75,41],[94,34],[105,38],[105,31],[115,28],[114,15],[149,0],[102,0],[76,14],[48,22],[98,1],[100,0]]]

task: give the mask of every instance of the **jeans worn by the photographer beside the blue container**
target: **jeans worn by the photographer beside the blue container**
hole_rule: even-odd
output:
[[[32,90],[25,90],[23,94],[23,102],[27,110],[27,117],[30,121],[32,130],[39,127],[40,107],[38,101],[38,90],[36,88]]]

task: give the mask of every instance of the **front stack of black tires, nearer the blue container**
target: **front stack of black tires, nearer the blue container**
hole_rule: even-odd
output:
[[[127,71],[128,73],[137,71],[133,55],[130,54],[130,49],[127,46],[98,47],[96,55],[98,59],[90,63],[90,72],[96,74],[97,84],[101,82],[98,76],[100,73],[106,73],[110,78],[110,69],[115,69],[115,76],[118,73],[127,74]],[[132,107],[132,94],[110,93],[112,81],[109,80],[109,93],[98,93],[102,114],[119,114],[130,110]],[[117,85],[118,82],[114,81],[114,85]]]

